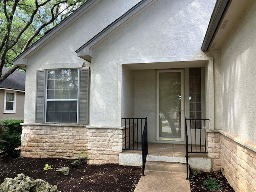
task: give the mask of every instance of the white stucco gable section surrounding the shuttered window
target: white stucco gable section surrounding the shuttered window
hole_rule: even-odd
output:
[[[88,66],[89,63],[79,58],[75,51],[138,2],[139,0],[129,0],[125,3],[124,1],[100,1],[68,28],[60,30],[26,57],[28,64],[24,122],[34,122],[36,70],[42,69],[42,64],[54,63],[85,62]]]

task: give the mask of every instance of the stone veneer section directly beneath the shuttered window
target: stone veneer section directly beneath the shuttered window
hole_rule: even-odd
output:
[[[21,156],[87,158],[88,130],[84,126],[30,124],[22,126]]]

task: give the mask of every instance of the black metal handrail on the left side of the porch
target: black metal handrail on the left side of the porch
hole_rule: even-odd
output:
[[[124,150],[142,150],[142,176],[148,154],[148,118],[122,118],[124,120]],[[143,126],[144,125],[144,126]],[[141,138],[139,136],[141,135]],[[139,140],[141,139],[141,147]]]

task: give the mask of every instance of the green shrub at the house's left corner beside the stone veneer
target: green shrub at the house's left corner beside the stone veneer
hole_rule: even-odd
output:
[[[6,119],[0,121],[4,126],[0,129],[0,150],[7,152],[8,155],[12,155],[15,148],[20,146],[20,136],[22,133],[23,120]]]

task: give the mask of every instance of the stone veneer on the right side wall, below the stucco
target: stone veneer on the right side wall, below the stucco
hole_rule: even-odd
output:
[[[255,192],[256,144],[220,132],[222,173],[236,192]]]

